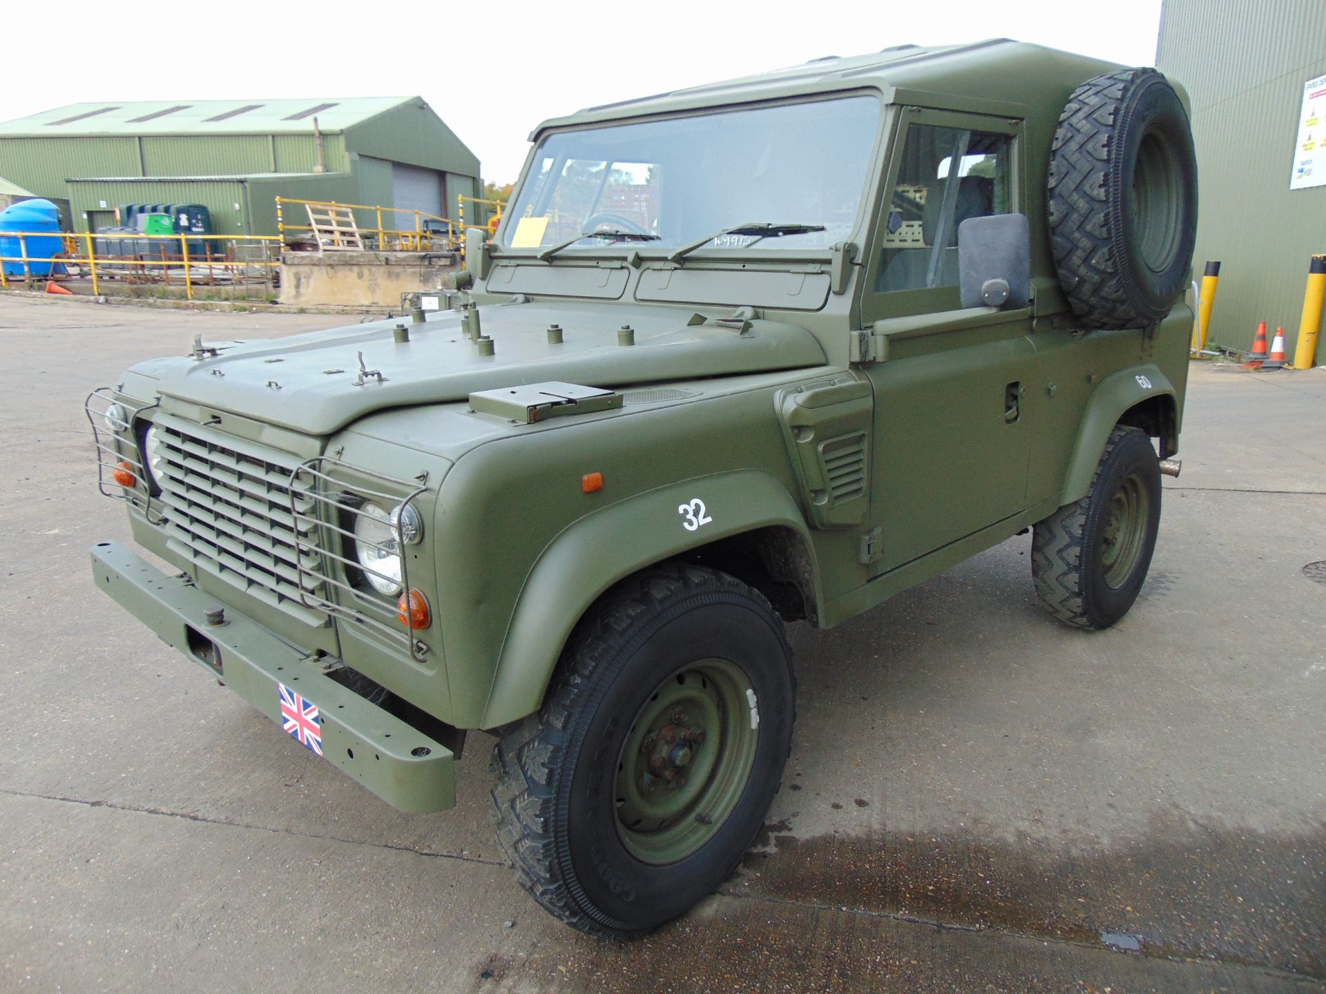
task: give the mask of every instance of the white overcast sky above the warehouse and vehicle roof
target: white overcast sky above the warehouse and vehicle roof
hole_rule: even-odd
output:
[[[49,34],[5,45],[4,118],[82,101],[419,94],[484,179],[507,183],[545,118],[821,56],[1010,37],[1152,65],[1160,0],[74,0],[44,23]]]

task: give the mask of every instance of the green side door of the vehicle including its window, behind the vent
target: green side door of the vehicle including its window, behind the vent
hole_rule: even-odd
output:
[[[1024,510],[1032,432],[1029,309],[963,309],[957,290],[957,225],[1024,209],[1021,122],[900,118],[862,300],[879,343],[871,575]]]

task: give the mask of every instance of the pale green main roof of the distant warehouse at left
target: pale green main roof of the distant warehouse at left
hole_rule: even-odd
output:
[[[233,135],[343,131],[420,97],[305,97],[232,101],[94,101],[0,123],[0,137]]]

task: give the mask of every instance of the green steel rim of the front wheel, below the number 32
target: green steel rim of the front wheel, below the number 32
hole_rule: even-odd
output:
[[[751,680],[724,659],[654,689],[617,762],[617,831],[633,856],[676,863],[723,828],[751,778],[757,714]]]

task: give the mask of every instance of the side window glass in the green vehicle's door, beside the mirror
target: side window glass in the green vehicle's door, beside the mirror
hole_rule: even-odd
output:
[[[1009,142],[961,127],[907,129],[876,293],[957,285],[957,225],[1010,209]]]

